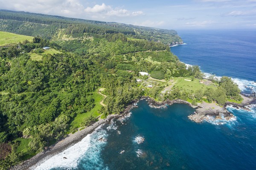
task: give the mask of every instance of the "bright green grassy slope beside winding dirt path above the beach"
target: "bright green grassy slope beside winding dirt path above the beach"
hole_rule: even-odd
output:
[[[103,100],[104,97],[102,95],[100,95],[98,92],[94,92],[94,94],[91,95],[91,98],[94,98],[94,100],[95,100],[94,101],[95,107],[93,109],[91,109],[90,112],[86,112],[86,113],[77,115],[70,124],[72,127],[79,128],[80,124],[84,120],[84,118],[89,117],[91,114],[94,117],[98,117],[100,115],[98,113],[98,110],[102,107],[102,105],[100,105],[99,103],[100,103],[100,101]]]

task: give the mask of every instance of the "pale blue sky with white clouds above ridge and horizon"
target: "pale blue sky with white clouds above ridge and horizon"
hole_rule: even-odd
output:
[[[256,29],[256,0],[0,0],[0,9],[162,29]]]

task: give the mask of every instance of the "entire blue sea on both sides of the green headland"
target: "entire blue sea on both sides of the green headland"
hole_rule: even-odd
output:
[[[180,61],[230,76],[246,94],[255,90],[255,32],[180,35],[186,44],[171,47]],[[224,124],[197,124],[188,119],[195,110],[186,104],[152,108],[143,100],[36,170],[255,170],[256,105],[249,107],[228,107],[236,120]]]

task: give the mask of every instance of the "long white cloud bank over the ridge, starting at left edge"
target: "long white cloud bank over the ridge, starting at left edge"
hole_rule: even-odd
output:
[[[142,11],[131,12],[127,9],[113,8],[105,3],[85,7],[83,4],[88,4],[86,2],[82,0],[0,0],[0,9],[99,20],[104,18],[113,20],[111,17],[134,17],[144,14]]]

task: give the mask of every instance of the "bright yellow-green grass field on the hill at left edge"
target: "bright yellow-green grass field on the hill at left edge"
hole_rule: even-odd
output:
[[[32,41],[33,37],[26,35],[18,35],[9,32],[0,31],[0,46],[7,46],[10,44],[15,44],[22,42],[24,40]]]

